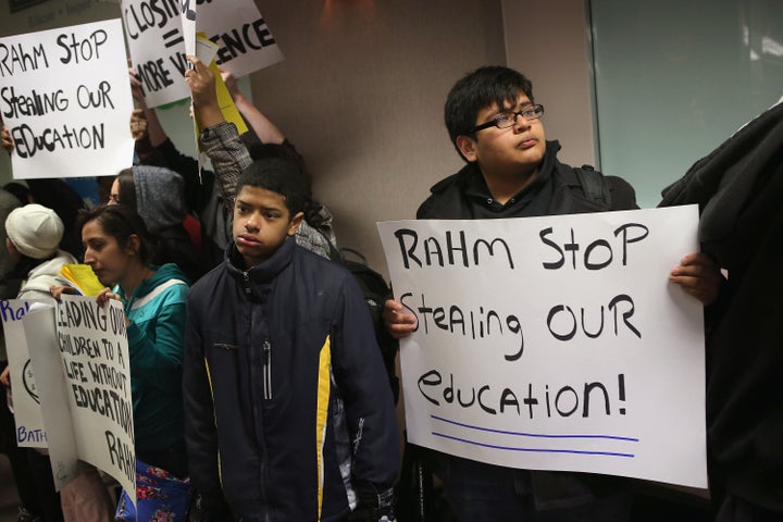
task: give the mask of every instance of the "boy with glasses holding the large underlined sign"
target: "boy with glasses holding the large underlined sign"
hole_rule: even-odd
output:
[[[634,190],[619,177],[557,159],[547,141],[531,82],[502,66],[481,67],[452,87],[446,127],[468,164],[438,182],[418,219],[498,219],[636,209]],[[708,304],[719,273],[701,253],[686,256],[669,275]],[[415,318],[388,300],[384,322],[396,338],[415,328]],[[551,471],[514,470],[426,450],[452,511],[463,521],[596,521],[630,519],[624,480]]]

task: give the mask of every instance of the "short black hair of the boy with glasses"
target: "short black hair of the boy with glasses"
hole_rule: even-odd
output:
[[[520,92],[533,102],[531,80],[522,73],[500,65],[480,67],[460,78],[451,87],[444,105],[446,128],[457,152],[462,156],[457,137],[473,136],[470,129],[475,126],[478,112],[493,104],[500,108],[509,103],[517,105]]]

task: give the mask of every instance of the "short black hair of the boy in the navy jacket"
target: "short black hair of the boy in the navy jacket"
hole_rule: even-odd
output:
[[[245,186],[265,188],[283,196],[294,217],[311,199],[310,178],[301,164],[289,158],[268,158],[252,162],[237,179],[237,195]]]

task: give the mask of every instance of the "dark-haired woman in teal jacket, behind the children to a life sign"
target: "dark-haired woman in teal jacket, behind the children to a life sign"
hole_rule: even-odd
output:
[[[86,264],[105,288],[99,302],[125,308],[136,458],[187,476],[182,363],[188,283],[174,263],[150,264],[153,241],[144,220],[123,204],[98,207],[79,220]]]

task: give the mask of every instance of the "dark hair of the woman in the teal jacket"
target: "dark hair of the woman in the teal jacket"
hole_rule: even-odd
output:
[[[116,239],[121,248],[125,248],[130,236],[139,238],[139,259],[145,264],[152,261],[157,250],[157,238],[147,228],[147,224],[134,209],[127,204],[101,204],[79,212],[76,229],[82,228],[90,221],[97,221],[103,232]]]

